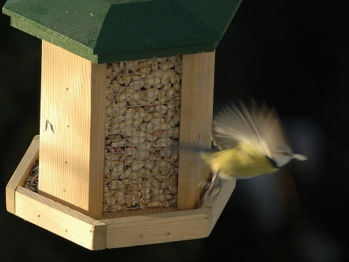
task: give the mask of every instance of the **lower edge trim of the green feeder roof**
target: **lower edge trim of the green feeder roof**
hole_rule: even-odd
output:
[[[179,1],[180,2],[180,1]],[[33,36],[41,38],[45,41],[53,43],[61,48],[64,48],[74,54],[80,55],[96,64],[103,64],[113,61],[124,61],[133,59],[146,59],[150,57],[167,57],[177,54],[193,54],[198,52],[211,52],[216,49],[219,41],[223,37],[226,29],[232,18],[234,17],[242,0],[237,0],[234,12],[230,14],[230,20],[227,21],[225,28],[221,31],[220,36],[202,36],[202,38],[186,39],[186,41],[177,41],[176,45],[161,46],[161,48],[151,48],[151,46],[145,46],[144,50],[123,50],[122,52],[110,52],[107,54],[94,54],[94,50],[89,48],[78,41],[74,41],[67,36],[59,34],[58,32],[47,28],[37,22],[27,19],[11,10],[3,8],[3,13],[11,17],[10,24],[22,31],[27,32]]]

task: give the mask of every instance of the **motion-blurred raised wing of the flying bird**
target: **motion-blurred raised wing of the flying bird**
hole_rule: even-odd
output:
[[[219,112],[214,118],[211,139],[220,150],[236,147],[239,143],[253,143],[271,159],[274,152],[290,154],[292,151],[276,111],[270,110],[265,103],[259,108],[254,101],[251,110],[242,103],[242,110],[232,104]]]

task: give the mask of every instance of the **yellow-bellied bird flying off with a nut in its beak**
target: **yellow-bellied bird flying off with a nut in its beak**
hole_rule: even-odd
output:
[[[211,168],[211,182],[202,181],[207,196],[218,194],[221,180],[239,180],[274,173],[291,159],[304,161],[302,154],[293,154],[283,126],[274,108],[266,103],[259,107],[252,100],[248,108],[240,101],[215,115],[211,127],[212,150],[200,152],[203,161]]]

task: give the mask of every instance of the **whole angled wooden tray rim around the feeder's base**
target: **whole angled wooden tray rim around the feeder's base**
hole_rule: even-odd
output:
[[[28,166],[25,163],[34,163],[37,156],[38,136],[18,166],[17,175],[9,182],[12,184],[9,188],[15,194],[13,213],[91,250],[205,238],[214,228],[236,184],[236,180],[223,181],[217,196],[207,198],[196,210],[156,214],[147,214],[144,210],[144,214],[132,217],[96,220],[29,189],[15,186],[15,177],[25,180],[29,175],[24,175],[27,170],[24,167]]]

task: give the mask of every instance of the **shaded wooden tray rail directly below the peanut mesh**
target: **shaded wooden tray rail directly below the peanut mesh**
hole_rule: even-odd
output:
[[[131,247],[209,235],[209,208],[101,220],[107,224],[106,247]]]

